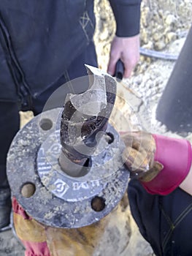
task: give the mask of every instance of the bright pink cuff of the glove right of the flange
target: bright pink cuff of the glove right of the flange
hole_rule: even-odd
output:
[[[188,140],[153,135],[156,144],[155,161],[164,168],[153,180],[142,185],[151,194],[167,195],[179,187],[191,168],[192,150]]]

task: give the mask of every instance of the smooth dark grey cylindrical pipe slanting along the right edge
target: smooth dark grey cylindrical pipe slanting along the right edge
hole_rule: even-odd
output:
[[[192,132],[192,27],[180,52],[164,93],[158,102],[156,118],[173,132]]]

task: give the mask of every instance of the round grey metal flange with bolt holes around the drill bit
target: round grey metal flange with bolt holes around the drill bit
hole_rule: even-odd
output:
[[[124,145],[110,124],[106,130],[110,140],[100,141],[85,175],[64,173],[58,163],[62,111],[48,110],[20,129],[9,148],[7,176],[12,195],[28,215],[53,227],[82,227],[117,206],[129,173],[121,159]]]

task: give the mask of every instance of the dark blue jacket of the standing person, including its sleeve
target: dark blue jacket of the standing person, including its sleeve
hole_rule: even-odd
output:
[[[110,2],[117,35],[138,34],[140,1]],[[52,86],[85,50],[94,29],[93,0],[1,0],[0,99],[37,97]]]

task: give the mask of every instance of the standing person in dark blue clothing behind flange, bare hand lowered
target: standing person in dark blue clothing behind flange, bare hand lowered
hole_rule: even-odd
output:
[[[118,59],[125,77],[139,60],[140,3],[110,0],[117,23],[108,66],[111,75]],[[9,224],[6,157],[20,127],[19,111],[41,113],[55,89],[86,75],[84,64],[97,66],[94,29],[93,0],[0,2],[0,229]]]

